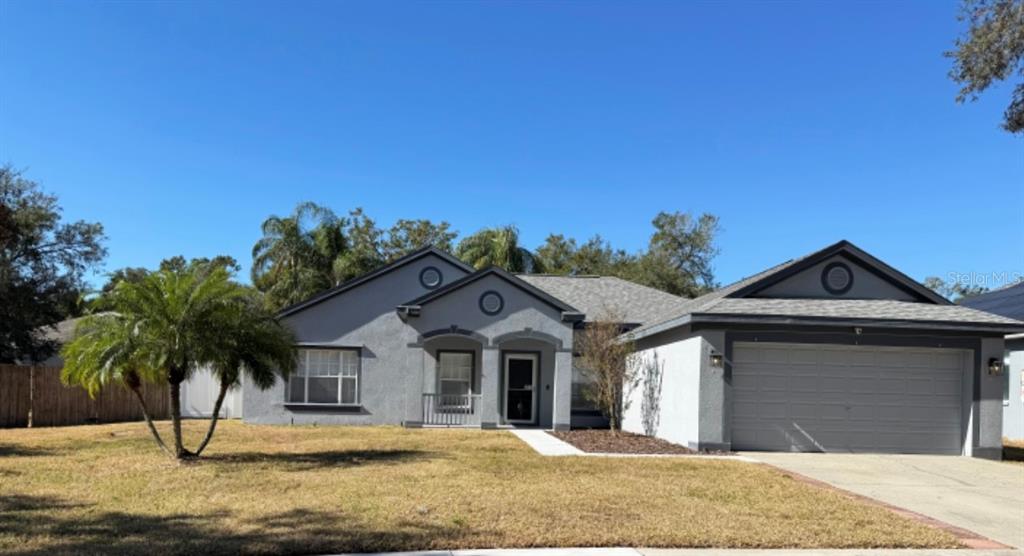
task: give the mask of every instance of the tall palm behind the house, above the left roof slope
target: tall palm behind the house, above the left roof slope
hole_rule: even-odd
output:
[[[331,287],[334,260],[346,251],[343,229],[343,220],[314,203],[300,203],[290,216],[270,216],[253,246],[253,284],[273,308]]]

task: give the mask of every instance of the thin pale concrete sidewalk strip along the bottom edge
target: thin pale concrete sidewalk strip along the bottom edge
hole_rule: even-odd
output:
[[[739,550],[658,548],[539,548],[390,552],[361,556],[1024,556],[1016,550]]]

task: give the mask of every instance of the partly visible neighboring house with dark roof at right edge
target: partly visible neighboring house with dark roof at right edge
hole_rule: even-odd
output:
[[[1024,320],[1024,282],[968,298],[962,305]],[[1004,361],[1002,435],[1024,440],[1024,334],[1007,336]]]

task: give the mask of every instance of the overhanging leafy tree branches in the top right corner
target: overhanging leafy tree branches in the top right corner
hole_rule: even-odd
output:
[[[964,0],[959,20],[968,29],[946,52],[949,77],[961,85],[957,102],[975,100],[992,84],[1015,74],[1024,78],[1024,0]],[[1024,130],[1024,80],[1014,88],[1002,128]]]

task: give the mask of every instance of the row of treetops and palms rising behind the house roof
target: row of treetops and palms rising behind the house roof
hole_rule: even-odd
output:
[[[263,238],[253,248],[253,283],[280,309],[433,245],[476,268],[613,275],[691,297],[714,288],[718,218],[663,212],[651,224],[647,249],[637,253],[615,249],[600,236],[579,243],[559,233],[530,250],[512,225],[480,229],[453,250],[458,233],[444,221],[401,219],[381,229],[361,209],[338,217],[304,203],[290,216],[263,222]]]

